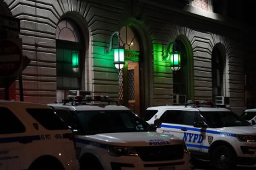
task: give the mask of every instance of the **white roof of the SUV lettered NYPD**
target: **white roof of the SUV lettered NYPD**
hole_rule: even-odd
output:
[[[201,107],[194,105],[162,105],[150,107],[147,110],[196,110],[196,111],[207,111],[207,112],[220,112],[220,111],[230,111],[227,108],[211,108],[211,107]]]

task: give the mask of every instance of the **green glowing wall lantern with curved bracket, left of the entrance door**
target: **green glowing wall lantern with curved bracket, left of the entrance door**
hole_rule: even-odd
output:
[[[105,52],[108,53],[114,49],[114,65],[117,69],[123,69],[125,65],[125,49],[119,45],[119,32],[114,32],[110,37],[109,48],[105,49]],[[117,35],[117,47],[113,48],[113,37]]]

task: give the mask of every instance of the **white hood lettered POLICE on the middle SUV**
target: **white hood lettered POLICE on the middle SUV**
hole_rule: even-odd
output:
[[[79,142],[99,142],[117,146],[159,146],[168,144],[181,144],[183,140],[168,134],[158,132],[125,132],[105,133],[87,136],[77,136]],[[84,140],[84,141],[82,141]]]

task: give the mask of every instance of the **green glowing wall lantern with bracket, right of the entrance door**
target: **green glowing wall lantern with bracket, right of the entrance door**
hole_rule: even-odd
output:
[[[172,45],[173,44],[173,45]],[[170,52],[170,46],[172,45],[172,52]],[[181,69],[181,52],[176,50],[176,42],[170,42],[166,49],[166,55],[162,55],[162,60],[170,60],[170,69],[172,71],[179,71]]]

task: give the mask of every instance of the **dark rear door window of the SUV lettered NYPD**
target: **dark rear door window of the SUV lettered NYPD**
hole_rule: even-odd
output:
[[[163,123],[183,124],[183,112],[181,110],[166,110],[160,120]]]

